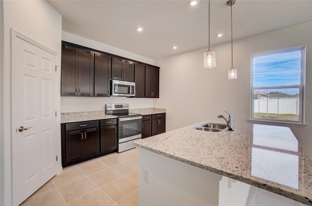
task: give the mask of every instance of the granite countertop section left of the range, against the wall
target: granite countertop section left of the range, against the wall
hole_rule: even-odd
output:
[[[60,114],[60,123],[81,122],[110,118],[117,118],[117,116],[105,114],[105,111],[67,112]]]

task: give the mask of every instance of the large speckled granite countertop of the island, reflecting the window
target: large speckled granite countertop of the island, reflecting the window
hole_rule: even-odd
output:
[[[194,129],[207,122],[134,144],[312,206],[312,161],[289,128],[236,123],[234,131]]]

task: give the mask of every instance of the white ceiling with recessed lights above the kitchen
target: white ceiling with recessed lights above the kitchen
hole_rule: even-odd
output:
[[[157,58],[208,45],[208,1],[48,0],[62,30],[138,55]],[[211,1],[211,44],[231,39],[230,7]],[[234,39],[312,20],[310,0],[236,0]],[[142,32],[136,30],[143,27]],[[223,33],[223,37],[216,37]],[[177,46],[176,50],[172,47]]]

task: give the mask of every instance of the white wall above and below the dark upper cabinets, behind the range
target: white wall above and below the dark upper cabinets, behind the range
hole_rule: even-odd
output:
[[[147,64],[154,64],[154,60],[109,46],[88,38],[80,37],[68,32],[62,32],[62,40],[86,46],[99,51],[124,56]],[[105,110],[105,104],[128,103],[131,109],[153,107],[153,99],[127,97],[61,97],[61,112],[85,112]]]

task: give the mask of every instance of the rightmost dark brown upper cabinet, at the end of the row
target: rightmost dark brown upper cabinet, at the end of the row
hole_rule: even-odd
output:
[[[145,97],[159,98],[159,69],[145,67]]]

